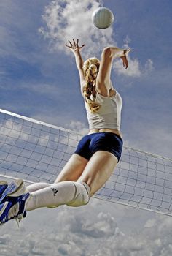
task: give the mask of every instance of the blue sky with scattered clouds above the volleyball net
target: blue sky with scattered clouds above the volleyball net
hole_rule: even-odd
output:
[[[130,47],[128,71],[119,62],[112,71],[124,100],[125,145],[171,157],[171,1],[104,1],[115,17],[106,30],[90,22],[101,4],[87,9],[90,1],[78,2],[1,1],[1,108],[85,131],[67,39],[85,42],[84,59],[100,58],[106,45]]]

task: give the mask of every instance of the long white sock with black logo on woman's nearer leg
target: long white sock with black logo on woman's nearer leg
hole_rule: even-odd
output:
[[[82,206],[89,202],[90,187],[84,182],[62,181],[31,193],[26,211],[60,205]]]

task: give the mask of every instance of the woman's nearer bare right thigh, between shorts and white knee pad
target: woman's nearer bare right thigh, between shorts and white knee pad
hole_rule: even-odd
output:
[[[78,181],[84,181],[91,190],[91,195],[100,189],[112,175],[117,165],[117,157],[108,151],[97,151],[90,158]]]

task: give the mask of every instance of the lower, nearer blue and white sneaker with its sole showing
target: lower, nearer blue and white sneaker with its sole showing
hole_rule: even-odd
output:
[[[25,205],[29,195],[27,192],[25,195],[7,197],[7,200],[0,204],[0,225],[10,219],[15,219],[19,223],[21,219],[26,217]]]

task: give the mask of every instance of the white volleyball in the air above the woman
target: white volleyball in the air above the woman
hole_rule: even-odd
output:
[[[93,12],[92,21],[98,29],[107,29],[114,22],[114,15],[108,8],[100,7]]]

